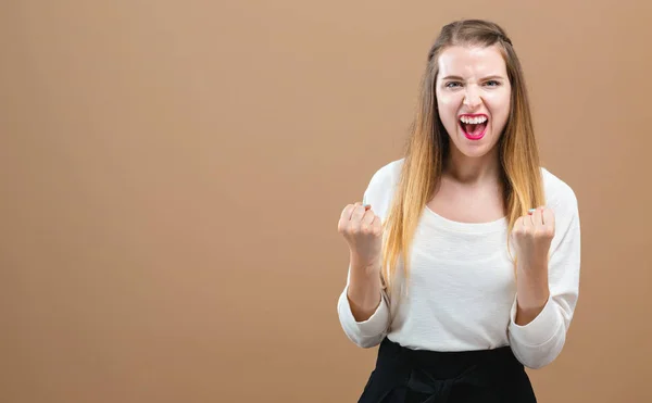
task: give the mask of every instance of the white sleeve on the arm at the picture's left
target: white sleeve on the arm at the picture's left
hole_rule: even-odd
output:
[[[391,197],[391,186],[394,180],[398,163],[389,164],[373,175],[365,192],[363,202],[372,204],[374,212],[385,219]],[[356,345],[368,349],[378,345],[390,326],[390,301],[385,290],[381,290],[380,304],[374,314],[364,322],[358,322],[351,312],[351,305],[347,295],[351,279],[351,266],[347,276],[347,285],[341,292],[337,312],[340,325],[349,338]]]

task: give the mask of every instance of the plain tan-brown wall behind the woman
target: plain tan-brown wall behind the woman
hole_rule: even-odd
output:
[[[581,4],[581,5],[580,5]],[[581,292],[541,402],[650,402],[652,7],[14,0],[0,12],[0,401],[353,402],[344,204],[401,156],[441,25],[494,20]]]

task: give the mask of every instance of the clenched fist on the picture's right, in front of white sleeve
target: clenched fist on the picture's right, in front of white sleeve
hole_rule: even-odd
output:
[[[512,230],[518,265],[548,266],[548,252],[554,237],[554,213],[544,206],[518,217]]]

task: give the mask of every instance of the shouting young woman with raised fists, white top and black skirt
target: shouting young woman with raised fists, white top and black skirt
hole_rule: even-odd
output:
[[[380,344],[360,402],[536,402],[525,367],[562,351],[580,228],[539,165],[523,71],[498,25],[444,26],[405,156],[338,223],[350,250],[346,335]]]

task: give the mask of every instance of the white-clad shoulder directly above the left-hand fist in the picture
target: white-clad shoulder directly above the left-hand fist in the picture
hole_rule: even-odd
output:
[[[391,161],[372,175],[364,192],[364,202],[372,205],[374,212],[385,218],[389,213],[391,200],[401,177],[404,159]]]

